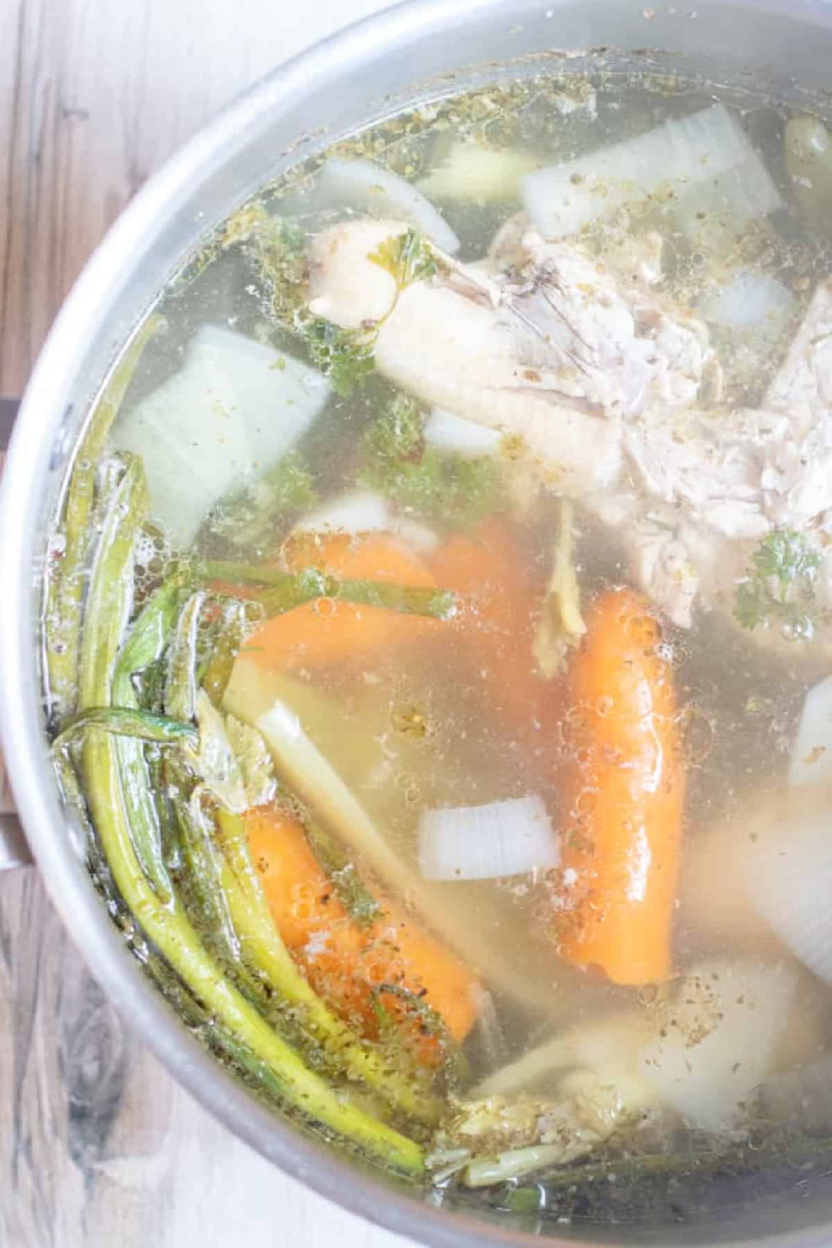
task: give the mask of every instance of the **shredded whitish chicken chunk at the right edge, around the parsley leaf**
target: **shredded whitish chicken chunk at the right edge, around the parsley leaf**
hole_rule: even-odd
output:
[[[624,432],[644,493],[664,507],[631,514],[626,542],[640,585],[680,625],[696,594],[731,614],[736,583],[776,528],[806,532],[821,557],[817,614],[832,607],[832,283],[822,283],[761,411],[650,413]],[[605,503],[609,507],[609,503]],[[651,504],[647,504],[651,507]],[[652,520],[652,522],[651,522]],[[664,530],[664,540],[661,532]],[[667,575],[667,563],[690,569]],[[681,583],[694,585],[694,594]],[[795,645],[778,629],[760,644]],[[832,651],[822,625],[813,655]]]

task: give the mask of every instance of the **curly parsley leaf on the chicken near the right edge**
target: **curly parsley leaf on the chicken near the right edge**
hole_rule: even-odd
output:
[[[815,582],[821,554],[806,534],[776,529],[755,550],[737,585],[733,614],[743,628],[781,623],[796,639],[815,631]]]

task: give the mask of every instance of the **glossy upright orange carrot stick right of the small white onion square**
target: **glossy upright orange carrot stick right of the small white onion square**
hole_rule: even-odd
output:
[[[559,947],[615,983],[671,972],[685,771],[660,625],[641,595],[602,594],[570,671]],[[573,875],[573,872],[575,872]]]

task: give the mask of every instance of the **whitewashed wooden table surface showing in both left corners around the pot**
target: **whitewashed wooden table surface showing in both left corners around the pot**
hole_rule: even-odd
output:
[[[384,0],[0,0],[0,394],[148,173]],[[1,694],[0,694],[1,695]],[[404,1241],[236,1141],[122,1026],[34,870],[0,879],[0,1248]]]

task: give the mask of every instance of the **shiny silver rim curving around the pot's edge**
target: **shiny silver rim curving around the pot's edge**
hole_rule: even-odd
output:
[[[541,7],[556,10],[570,2],[548,0]],[[733,0],[737,9],[760,12],[782,15],[788,9],[795,22],[825,27],[832,27],[831,5],[832,0]],[[403,39],[435,34],[494,7],[493,0],[405,0],[354,22],[274,69],[166,161],[107,232],[65,301],[26,387],[0,490],[0,735],[31,850],[71,940],[142,1042],[235,1134],[319,1196],[435,1248],[524,1246],[536,1237],[420,1202],[389,1186],[382,1176],[357,1169],[329,1146],[264,1108],[185,1030],[128,951],[106,907],[91,902],[77,829],[67,826],[59,806],[44,739],[39,641],[31,630],[32,568],[40,567],[42,553],[35,548],[37,529],[26,523],[26,517],[30,499],[37,498],[42,487],[54,439],[60,439],[75,362],[102,332],[120,266],[125,257],[145,250],[146,240],[181,201],[182,190],[205,177],[217,152],[233,146],[235,135],[264,125],[276,110],[307,94],[309,82],[326,84],[337,77],[341,67],[360,62],[369,54],[393,49]],[[574,1243],[548,1242],[561,1248]],[[600,1239],[581,1242],[599,1248],[601,1244]],[[766,1242],[772,1248],[820,1248],[828,1242],[828,1228],[788,1232]],[[732,1243],[735,1248],[753,1248],[757,1241]]]

